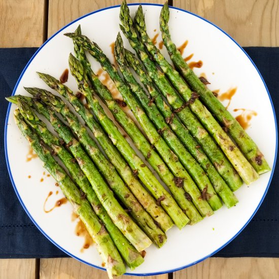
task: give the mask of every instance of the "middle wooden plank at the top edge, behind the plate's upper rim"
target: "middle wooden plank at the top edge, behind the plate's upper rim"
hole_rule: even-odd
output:
[[[164,0],[128,0],[128,3],[138,2],[163,4]],[[49,0],[48,37],[78,17],[121,3],[122,0]]]

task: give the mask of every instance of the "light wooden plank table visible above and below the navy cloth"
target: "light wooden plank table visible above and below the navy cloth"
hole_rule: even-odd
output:
[[[128,0],[132,2],[140,1]],[[163,4],[164,0],[141,2]],[[72,20],[120,3],[121,0],[0,0],[0,47],[39,47]],[[279,0],[173,0],[169,4],[214,22],[241,46],[279,46]],[[279,259],[273,258],[209,258],[187,269],[149,278],[278,278],[278,266]],[[106,279],[107,275],[72,258],[0,260],[0,278],[39,277]]]

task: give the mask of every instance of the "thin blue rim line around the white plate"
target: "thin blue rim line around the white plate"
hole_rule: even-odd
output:
[[[134,4],[129,4],[128,6],[136,6],[136,5],[143,5],[143,6],[159,6],[159,7],[162,7],[162,6],[163,6],[163,5],[161,5],[161,4],[150,4],[150,3],[145,3],[145,4],[134,3]],[[58,33],[60,33],[60,32],[61,32],[63,29],[65,29],[66,27],[68,27],[69,25],[75,23],[76,21],[78,21],[78,20],[80,20],[80,19],[82,19],[82,18],[84,18],[84,17],[90,16],[90,15],[92,15],[92,14],[95,14],[95,13],[98,13],[98,12],[101,12],[101,11],[104,11],[104,10],[114,9],[114,8],[118,8],[118,7],[120,7],[120,5],[116,5],[116,6],[111,6],[111,7],[103,8],[103,9],[94,11],[94,12],[92,12],[92,13],[86,14],[86,15],[84,15],[84,16],[82,16],[82,17],[79,17],[79,18],[77,18],[76,20],[74,20],[74,21],[68,23],[68,24],[65,25],[63,28],[61,28],[59,31],[57,31],[56,33],[54,33],[54,34],[53,34],[53,35],[52,35],[52,36],[51,36],[51,37],[50,37],[50,38],[49,38],[49,39],[48,39],[48,40],[47,40],[34,54],[33,54],[33,56],[31,57],[31,59],[28,61],[28,63],[27,63],[26,66],[24,67],[24,69],[23,69],[23,71],[22,71],[22,73],[21,73],[21,75],[20,75],[20,77],[19,77],[19,79],[18,79],[18,81],[17,81],[17,83],[16,83],[16,86],[15,86],[15,88],[14,88],[14,90],[13,90],[12,95],[15,94],[15,91],[17,90],[18,84],[19,84],[19,82],[20,82],[22,76],[24,75],[26,69],[28,68],[29,64],[31,63],[31,61],[32,61],[32,60],[34,59],[34,57],[40,52],[40,50],[41,50],[50,40],[52,40]],[[203,260],[205,260],[205,259],[207,259],[207,258],[213,256],[215,253],[219,252],[219,251],[220,251],[221,249],[223,249],[226,245],[228,245],[228,243],[230,243],[230,242],[231,242],[231,241],[232,241],[232,240],[233,240],[233,239],[234,239],[247,225],[248,225],[248,223],[251,221],[251,219],[254,217],[254,215],[255,215],[256,212],[258,211],[260,205],[262,204],[262,202],[263,202],[263,200],[264,200],[264,198],[265,198],[265,195],[266,195],[266,193],[267,193],[267,190],[268,190],[268,188],[269,188],[271,179],[272,179],[272,177],[273,177],[273,172],[274,172],[275,164],[276,164],[277,147],[278,147],[278,135],[277,135],[276,115],[275,115],[273,103],[272,103],[272,100],[271,100],[271,96],[270,96],[270,94],[269,94],[269,91],[268,91],[268,89],[267,89],[267,86],[266,86],[266,84],[265,84],[265,82],[264,82],[264,80],[263,80],[263,78],[262,78],[261,73],[259,72],[259,70],[258,70],[258,68],[256,67],[255,63],[253,62],[253,60],[252,60],[252,59],[250,58],[250,56],[246,53],[246,51],[243,50],[243,49],[240,47],[240,45],[239,45],[238,43],[236,43],[236,41],[235,41],[234,39],[232,39],[232,38],[229,36],[229,34],[227,34],[224,30],[222,30],[221,28],[219,28],[218,26],[216,26],[214,23],[212,23],[212,22],[210,22],[210,21],[208,21],[208,20],[206,20],[206,19],[204,19],[204,18],[202,18],[202,17],[200,17],[200,16],[198,16],[198,15],[195,15],[195,14],[193,14],[193,13],[191,13],[191,12],[185,11],[185,10],[183,10],[183,9],[176,8],[176,7],[172,7],[172,6],[169,6],[169,8],[175,9],[175,10],[179,10],[179,11],[182,11],[182,12],[185,12],[185,13],[188,13],[188,14],[191,14],[191,15],[196,16],[196,17],[202,19],[203,21],[205,21],[205,22],[207,22],[207,23],[210,23],[211,25],[215,26],[217,29],[219,29],[220,31],[222,31],[227,37],[229,37],[229,38],[232,40],[232,42],[234,42],[234,43],[246,54],[246,56],[249,58],[249,60],[251,61],[251,63],[252,63],[252,64],[254,65],[254,67],[256,68],[256,70],[257,70],[257,72],[258,72],[258,74],[259,74],[259,76],[260,76],[260,78],[261,78],[261,80],[262,80],[262,82],[263,82],[263,84],[264,84],[264,86],[265,86],[266,92],[267,92],[267,94],[268,94],[268,97],[269,97],[269,100],[270,100],[270,104],[271,104],[271,107],[272,107],[272,111],[273,111],[274,120],[275,120],[276,148],[275,148],[275,154],[274,154],[274,160],[273,160],[273,167],[272,167],[272,170],[271,170],[271,176],[270,176],[270,178],[269,178],[267,187],[266,187],[266,189],[265,189],[265,192],[264,192],[264,194],[263,194],[263,196],[262,196],[262,198],[261,198],[261,200],[260,200],[260,202],[259,202],[259,204],[258,204],[258,206],[257,206],[257,208],[256,208],[256,210],[255,210],[255,212],[251,215],[250,219],[246,222],[246,224],[245,224],[245,225],[244,225],[244,226],[230,239],[230,240],[228,240],[224,245],[222,245],[219,249],[217,249],[217,250],[215,250],[214,252],[212,252],[211,254],[209,254],[209,255],[207,255],[207,256],[205,256],[205,257],[199,259],[198,261],[192,262],[192,263],[190,263],[190,264],[188,264],[188,265],[181,266],[181,267],[178,267],[178,268],[175,268],[175,269],[165,270],[165,271],[160,271],[160,272],[153,272],[153,273],[125,273],[126,275],[148,276],[148,275],[159,275],[159,274],[164,274],[164,273],[175,272],[175,271],[178,271],[178,270],[181,270],[181,269],[190,267],[190,266],[192,266],[192,265],[194,265],[194,264],[197,264],[197,263],[199,263],[199,262],[201,262],[201,261],[203,261]],[[86,261],[84,261],[84,260],[82,260],[82,259],[79,259],[78,257],[74,256],[73,254],[67,252],[66,250],[64,250],[62,247],[60,247],[53,239],[51,239],[51,238],[40,228],[40,226],[36,223],[36,221],[33,220],[32,216],[31,216],[30,213],[28,212],[27,208],[25,207],[25,205],[24,205],[24,203],[23,203],[23,201],[22,201],[22,199],[21,199],[21,197],[20,197],[20,195],[19,195],[19,193],[18,193],[18,191],[17,191],[16,185],[15,185],[14,180],[13,180],[13,176],[12,176],[12,172],[11,172],[11,168],[10,168],[10,164],[9,164],[9,159],[8,159],[8,153],[7,153],[7,127],[8,127],[8,119],[9,119],[10,110],[11,110],[11,103],[9,104],[8,111],[7,111],[7,115],[6,115],[6,121],[5,121],[5,134],[4,134],[4,136],[5,136],[5,157],[6,157],[6,161],[7,161],[7,166],[8,166],[8,171],[9,171],[9,175],[10,175],[10,178],[11,178],[11,182],[12,182],[12,184],[13,184],[13,187],[14,187],[14,189],[15,189],[16,195],[17,195],[17,197],[18,197],[18,199],[19,199],[21,205],[23,206],[24,210],[26,211],[27,215],[28,215],[29,218],[32,220],[32,222],[37,226],[37,228],[38,228],[38,229],[39,229],[39,230],[40,230],[40,231],[41,231],[41,232],[55,245],[55,246],[57,246],[60,250],[62,250],[62,251],[63,251],[64,253],[66,253],[67,255],[69,255],[69,256],[71,256],[71,257],[73,257],[73,258],[79,260],[79,261],[82,262],[82,263],[88,264],[88,265],[90,265],[90,266],[96,267],[96,268],[101,269],[101,270],[106,270],[106,268],[102,268],[102,267],[96,266],[96,265],[94,265],[94,264],[88,263],[88,262],[86,262]]]

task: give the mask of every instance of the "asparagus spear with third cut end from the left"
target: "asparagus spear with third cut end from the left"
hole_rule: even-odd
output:
[[[40,99],[39,95],[36,95],[36,99],[33,101],[36,110],[47,118],[59,137],[62,138],[66,146],[72,152],[114,224],[121,230],[137,251],[142,251],[150,246],[151,240],[137,227],[134,221],[132,221],[129,215],[123,210],[115,199],[109,186],[101,177],[98,169],[92,163],[80,143],[73,137],[71,130],[63,124],[53,110],[46,107],[45,104],[42,104],[37,99]]]

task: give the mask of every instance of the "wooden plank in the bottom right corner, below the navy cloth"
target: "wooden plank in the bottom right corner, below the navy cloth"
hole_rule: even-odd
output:
[[[173,273],[173,279],[268,279],[279,278],[279,259],[209,258]]]

